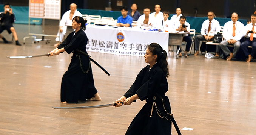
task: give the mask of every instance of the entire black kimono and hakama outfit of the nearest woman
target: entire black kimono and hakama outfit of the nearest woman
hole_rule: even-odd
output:
[[[166,110],[171,114],[170,102],[165,96],[168,91],[167,78],[159,63],[149,69],[150,66],[147,65],[140,71],[124,95],[128,98],[137,94],[141,101],[146,100],[146,104],[133,119],[125,135],[171,135],[170,115],[165,112]]]

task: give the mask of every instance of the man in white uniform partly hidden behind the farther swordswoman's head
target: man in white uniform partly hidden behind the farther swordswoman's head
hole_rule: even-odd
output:
[[[57,34],[57,37],[55,40],[58,41],[57,44],[54,44],[55,47],[59,46],[60,42],[64,40],[64,36],[67,32],[67,26],[72,26],[72,20],[75,16],[82,17],[82,14],[76,10],[76,4],[72,3],[70,4],[70,10],[65,12],[62,16],[62,19],[60,20],[60,30]],[[69,33],[68,33],[69,34]]]

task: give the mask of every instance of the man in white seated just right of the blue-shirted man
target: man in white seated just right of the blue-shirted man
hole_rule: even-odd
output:
[[[143,15],[141,15],[136,23],[138,27],[152,27],[152,18],[150,16],[150,9],[145,8],[143,11]]]

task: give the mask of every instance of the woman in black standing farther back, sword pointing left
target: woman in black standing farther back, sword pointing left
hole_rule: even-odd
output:
[[[59,55],[64,51],[68,54],[73,53],[68,71],[62,77],[60,90],[60,101],[62,103],[78,103],[86,99],[101,100],[94,86],[90,60],[76,51],[76,49],[79,49],[87,53],[88,38],[83,31],[86,29],[86,22],[87,20],[83,20],[82,17],[74,17],[72,28],[76,31],[70,33],[62,44],[50,52],[50,56]]]

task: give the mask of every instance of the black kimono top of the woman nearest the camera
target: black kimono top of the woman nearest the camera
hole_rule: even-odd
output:
[[[158,95],[165,95],[168,91],[168,82],[159,62],[153,65],[150,70],[149,69],[150,65],[142,68],[133,85],[131,85],[130,89],[125,93],[124,96],[126,98],[137,94],[141,101],[145,99],[147,101],[147,99],[153,99],[153,96],[157,98],[159,97]]]

